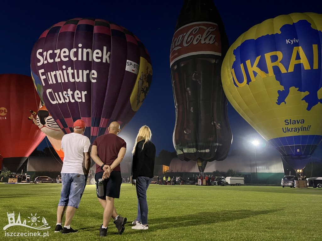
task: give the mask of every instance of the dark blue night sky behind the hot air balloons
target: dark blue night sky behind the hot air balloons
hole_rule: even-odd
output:
[[[21,3],[23,2],[23,3]],[[175,104],[170,76],[170,45],[183,0],[166,1],[3,1],[0,8],[0,73],[30,74],[33,44],[51,25],[77,17],[115,22],[133,32],[146,46],[152,61],[153,78],[147,98],[119,134],[134,145],[138,129],[148,125],[156,153],[174,151],[172,134]],[[322,2],[307,1],[214,1],[223,20],[229,43],[266,19],[294,12],[322,13]],[[248,148],[257,138],[267,142],[228,104],[233,134],[231,150]],[[49,141],[48,141],[49,143]],[[49,143],[50,145],[50,143]],[[38,149],[47,146],[44,140]],[[321,145],[320,145],[321,146]],[[321,156],[319,147],[314,156]],[[127,155],[130,151],[127,152]]]

